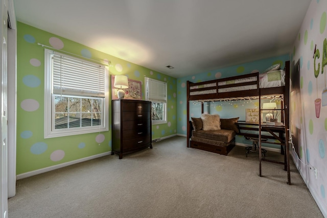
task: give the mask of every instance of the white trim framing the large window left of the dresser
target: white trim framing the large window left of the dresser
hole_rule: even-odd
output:
[[[108,91],[108,69],[105,67],[105,98],[103,100],[103,122],[102,126],[97,127],[81,127],[72,129],[52,130],[52,111],[55,110],[54,95],[52,87],[52,66],[51,55],[53,51],[44,49],[44,138],[54,138],[70,135],[80,135],[95,132],[104,132],[109,130],[109,91]],[[85,61],[87,62],[87,61]],[[91,62],[90,62],[91,63]],[[87,96],[85,96],[87,98]]]

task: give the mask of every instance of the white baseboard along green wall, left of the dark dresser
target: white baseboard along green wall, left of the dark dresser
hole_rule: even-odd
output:
[[[80,163],[80,162],[84,162],[84,161],[87,161],[87,160],[96,159],[96,158],[103,157],[103,156],[106,156],[106,155],[111,155],[111,151],[110,152],[105,152],[105,153],[102,153],[102,154],[92,155],[92,156],[81,158],[81,159],[78,159],[78,160],[73,160],[73,161],[61,163],[61,164],[54,165],[54,166],[49,166],[49,167],[37,169],[36,171],[31,171],[31,172],[27,172],[27,173],[24,173],[24,174],[19,174],[19,175],[17,175],[17,180],[18,179],[24,179],[24,178],[27,178],[27,177],[30,177],[30,176],[35,176],[35,175],[42,174],[42,173],[45,173],[45,172],[53,171],[54,169],[59,169],[59,168],[65,167],[65,166],[73,165],[75,163]]]

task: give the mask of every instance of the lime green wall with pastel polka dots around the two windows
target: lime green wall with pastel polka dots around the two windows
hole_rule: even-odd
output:
[[[56,138],[43,138],[44,127],[44,47],[90,58],[110,61],[110,75],[126,75],[142,82],[144,76],[168,82],[168,123],[152,126],[152,139],[176,134],[176,79],[160,72],[96,51],[90,47],[17,23],[17,161],[16,174],[99,155],[111,151],[111,111],[109,131]],[[110,86],[110,84],[109,84]],[[109,93],[111,99],[111,92]],[[109,107],[111,108],[111,101]]]

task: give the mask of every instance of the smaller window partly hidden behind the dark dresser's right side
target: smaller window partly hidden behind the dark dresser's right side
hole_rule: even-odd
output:
[[[167,123],[167,83],[145,78],[146,100],[152,102],[152,124]]]

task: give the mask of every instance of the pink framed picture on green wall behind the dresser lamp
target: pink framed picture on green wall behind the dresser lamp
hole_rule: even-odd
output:
[[[111,99],[118,99],[117,91],[119,88],[115,88],[114,75],[111,75]],[[142,100],[142,82],[128,79],[128,88],[123,88],[125,91],[124,99]]]

